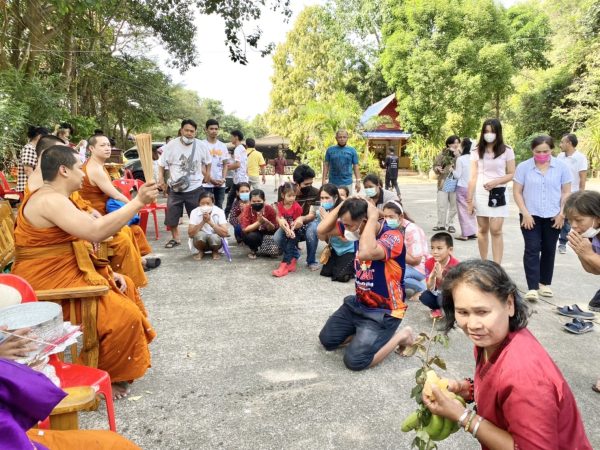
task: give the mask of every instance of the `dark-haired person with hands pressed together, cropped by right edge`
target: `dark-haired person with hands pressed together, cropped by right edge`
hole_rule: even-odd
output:
[[[600,275],[600,192],[578,191],[567,199],[565,215],[571,223],[567,235],[569,247],[588,273]],[[600,312],[600,290],[588,304],[590,311]],[[600,377],[592,389],[600,393]]]

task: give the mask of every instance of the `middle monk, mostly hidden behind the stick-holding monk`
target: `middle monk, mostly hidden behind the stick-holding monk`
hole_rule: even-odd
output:
[[[45,149],[56,144],[64,144],[64,142],[62,139],[53,135],[42,136],[35,149],[38,160]],[[31,192],[38,190],[43,185],[42,170],[38,164],[27,180],[27,185],[25,186],[25,198],[27,198]],[[102,216],[102,214],[92,207],[90,202],[81,197],[78,191],[73,192],[70,198],[80,210],[91,214],[93,217]],[[112,239],[108,241],[108,246],[112,250],[109,261],[113,270],[131,278],[137,287],[146,286],[148,284],[148,278],[144,273],[142,255],[137,246],[137,241],[133,237],[131,228],[128,226],[121,228]]]

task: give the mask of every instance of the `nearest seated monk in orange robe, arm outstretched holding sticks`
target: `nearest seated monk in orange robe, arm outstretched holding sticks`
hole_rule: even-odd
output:
[[[69,196],[79,189],[81,161],[66,146],[53,146],[41,157],[44,185],[19,209],[12,272],[34,289],[107,285],[98,302],[98,367],[111,377],[116,396],[126,395],[123,382],[142,377],[150,367],[148,344],[156,333],[133,282],[95,258],[89,242],[115,234],[145,204],[156,200],[155,183],[146,183],[136,199],[99,218],[77,209]],[[68,310],[63,311],[68,318]]]

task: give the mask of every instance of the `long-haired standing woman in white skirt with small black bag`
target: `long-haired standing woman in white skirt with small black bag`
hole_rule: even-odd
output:
[[[481,259],[487,259],[489,236],[492,237],[494,262],[502,262],[502,227],[508,217],[506,184],[515,173],[515,152],[504,144],[502,124],[487,119],[481,127],[477,148],[471,152],[471,179],[467,193],[469,214],[475,213],[479,233],[477,244]]]

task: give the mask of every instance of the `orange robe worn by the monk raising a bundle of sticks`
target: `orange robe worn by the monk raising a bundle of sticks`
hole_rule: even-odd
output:
[[[107,295],[100,297],[98,302],[98,367],[107,371],[113,382],[142,377],[150,367],[148,344],[154,339],[156,332],[146,317],[146,310],[135,285],[125,277],[128,296],[122,294],[115,285],[110,267],[96,268],[93,273],[84,272],[75,252],[81,257],[81,252],[78,251],[81,248],[80,244],[89,247],[91,245],[78,241],[58,227],[33,227],[23,214],[28,200],[29,198],[19,209],[15,228],[17,253],[49,245],[73,244],[75,241],[77,245],[70,254],[64,254],[64,251],[48,251],[33,259],[20,259],[17,256],[12,273],[25,278],[34,289],[39,290],[92,284],[108,285],[111,290]],[[63,308],[63,315],[66,320],[69,319],[68,308]]]

